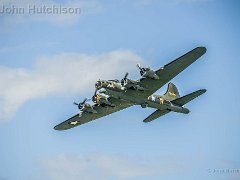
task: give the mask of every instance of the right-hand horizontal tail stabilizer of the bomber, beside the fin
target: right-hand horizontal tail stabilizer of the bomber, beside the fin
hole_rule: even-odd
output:
[[[195,91],[193,93],[190,93],[186,96],[175,99],[175,100],[172,101],[172,103],[183,106],[184,104],[187,104],[189,101],[191,101],[191,100],[195,99],[196,97],[202,95],[206,91],[207,91],[206,89],[200,89],[200,90]]]

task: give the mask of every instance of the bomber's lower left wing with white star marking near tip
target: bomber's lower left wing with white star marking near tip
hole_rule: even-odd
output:
[[[76,126],[79,126],[81,124],[93,121],[95,119],[101,118],[103,116],[112,114],[114,112],[120,111],[122,109],[128,108],[132,106],[132,103],[122,101],[116,98],[111,97],[109,101],[114,104],[114,107],[102,107],[98,105],[94,105],[94,109],[97,111],[97,113],[87,113],[83,112],[81,114],[81,117],[79,117],[79,114],[76,114],[75,116],[69,118],[68,120],[58,124],[54,127],[55,130],[67,130]]]

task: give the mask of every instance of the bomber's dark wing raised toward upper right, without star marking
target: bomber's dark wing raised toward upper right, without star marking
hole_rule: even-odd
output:
[[[203,54],[205,54],[205,52],[205,47],[197,47],[155,71],[159,79],[140,79],[139,85],[147,89],[141,93],[141,96],[148,97],[156,92],[180,72],[186,69],[189,65],[195,62],[198,58],[200,58]]]

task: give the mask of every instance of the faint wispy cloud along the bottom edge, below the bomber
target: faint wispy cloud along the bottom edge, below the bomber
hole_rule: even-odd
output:
[[[153,173],[147,163],[110,155],[61,155],[42,162],[49,180],[129,179]]]

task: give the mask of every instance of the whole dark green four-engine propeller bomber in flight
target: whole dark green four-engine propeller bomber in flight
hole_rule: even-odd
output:
[[[167,92],[164,95],[155,95],[153,93],[200,58],[205,52],[205,47],[197,47],[157,71],[137,64],[141,74],[141,79],[137,81],[127,78],[128,73],[121,81],[97,81],[95,84],[96,90],[92,97],[94,104],[87,103],[87,99],[79,104],[74,103],[78,106],[80,113],[55,126],[54,129],[67,130],[132,105],[156,109],[155,112],[143,120],[144,122],[150,122],[171,111],[188,114],[190,111],[184,105],[205,93],[206,89],[200,89],[180,97],[176,86],[169,83]]]

